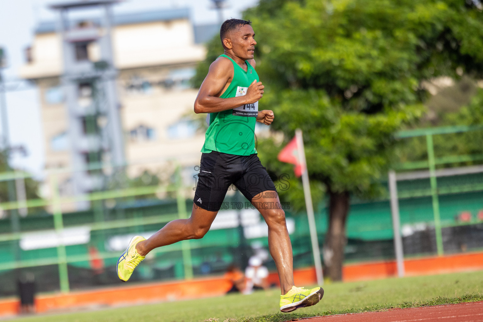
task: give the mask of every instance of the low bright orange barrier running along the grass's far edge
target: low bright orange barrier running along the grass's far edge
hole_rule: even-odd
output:
[[[404,266],[406,276],[479,270],[483,269],[483,253],[412,258],[406,259]],[[395,261],[350,264],[342,268],[342,279],[344,281],[384,279],[394,277],[396,274]],[[268,280],[270,284],[279,285],[277,273],[270,273]],[[296,285],[315,284],[315,269],[313,267],[296,269],[294,281]],[[39,295],[35,300],[35,307],[37,312],[47,312],[70,308],[133,305],[220,296],[230,288],[231,282],[223,277],[130,284],[68,294]],[[0,301],[1,317],[15,315],[18,311],[19,301],[17,299],[10,298]]]

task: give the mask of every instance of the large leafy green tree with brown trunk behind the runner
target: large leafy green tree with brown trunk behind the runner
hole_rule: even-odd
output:
[[[424,112],[422,82],[482,75],[481,10],[479,0],[260,0],[245,12],[266,86],[260,108],[274,111],[271,130],[284,134],[257,151],[272,174],[291,173],[276,155],[303,130],[309,176],[329,198],[323,253],[332,280],[341,280],[350,196],[381,192],[394,133]],[[216,41],[197,84],[222,53]]]

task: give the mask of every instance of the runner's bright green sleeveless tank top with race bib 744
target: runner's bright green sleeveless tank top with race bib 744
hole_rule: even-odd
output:
[[[244,71],[227,55],[220,55],[220,57],[227,57],[233,63],[233,80],[220,98],[245,95],[248,86],[254,80],[258,82],[258,74],[255,69],[247,61],[248,69]],[[255,123],[257,115],[258,102],[222,112],[209,113],[207,117],[209,126],[201,152],[218,151],[236,155],[256,153]]]

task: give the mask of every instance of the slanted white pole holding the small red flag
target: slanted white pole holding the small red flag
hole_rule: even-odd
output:
[[[309,219],[310,240],[312,242],[313,262],[315,264],[315,276],[317,284],[324,284],[324,275],[322,274],[322,262],[320,260],[319,240],[317,238],[317,228],[315,227],[315,218],[313,216],[312,196],[310,194],[309,174],[307,171],[307,163],[305,161],[305,149],[303,146],[302,130],[295,130],[297,138],[297,149],[299,162],[302,166],[302,184],[303,194],[305,196],[305,207],[307,208],[307,218]]]

